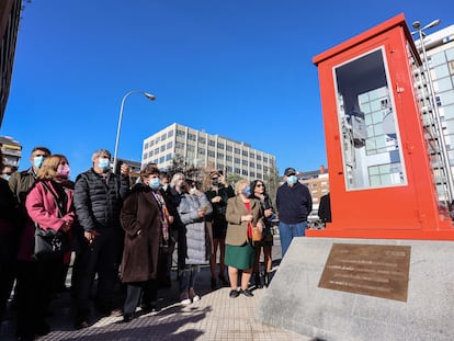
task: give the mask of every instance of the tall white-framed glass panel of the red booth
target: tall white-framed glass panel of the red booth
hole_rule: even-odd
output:
[[[345,190],[406,185],[384,48],[333,68]]]

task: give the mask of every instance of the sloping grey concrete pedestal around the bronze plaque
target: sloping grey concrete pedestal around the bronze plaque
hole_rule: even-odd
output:
[[[318,287],[334,242],[410,246],[407,302]],[[452,341],[454,242],[295,238],[256,318],[327,341]]]

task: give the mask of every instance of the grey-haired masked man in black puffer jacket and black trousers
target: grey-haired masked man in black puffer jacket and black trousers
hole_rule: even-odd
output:
[[[75,206],[81,227],[77,236],[73,281],[76,328],[89,327],[90,293],[95,273],[97,308],[102,314],[121,315],[118,309],[113,309],[113,296],[123,245],[120,212],[129,190],[129,168],[122,164],[122,174],[118,177],[111,171],[110,160],[107,150],[94,151],[93,167],[76,179]]]

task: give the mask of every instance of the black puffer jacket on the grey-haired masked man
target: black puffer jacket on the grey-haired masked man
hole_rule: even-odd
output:
[[[112,172],[97,173],[92,168],[79,174],[75,184],[75,207],[84,231],[120,227],[123,198],[129,190],[129,180]]]

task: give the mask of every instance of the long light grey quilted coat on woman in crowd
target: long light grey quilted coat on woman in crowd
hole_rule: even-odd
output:
[[[198,217],[198,209],[204,209],[206,215],[213,212],[213,207],[204,193],[192,195],[185,193],[181,196],[178,213],[183,224],[183,230],[179,232],[179,268],[186,264],[206,264],[211,255],[211,245],[207,242],[205,218]]]

